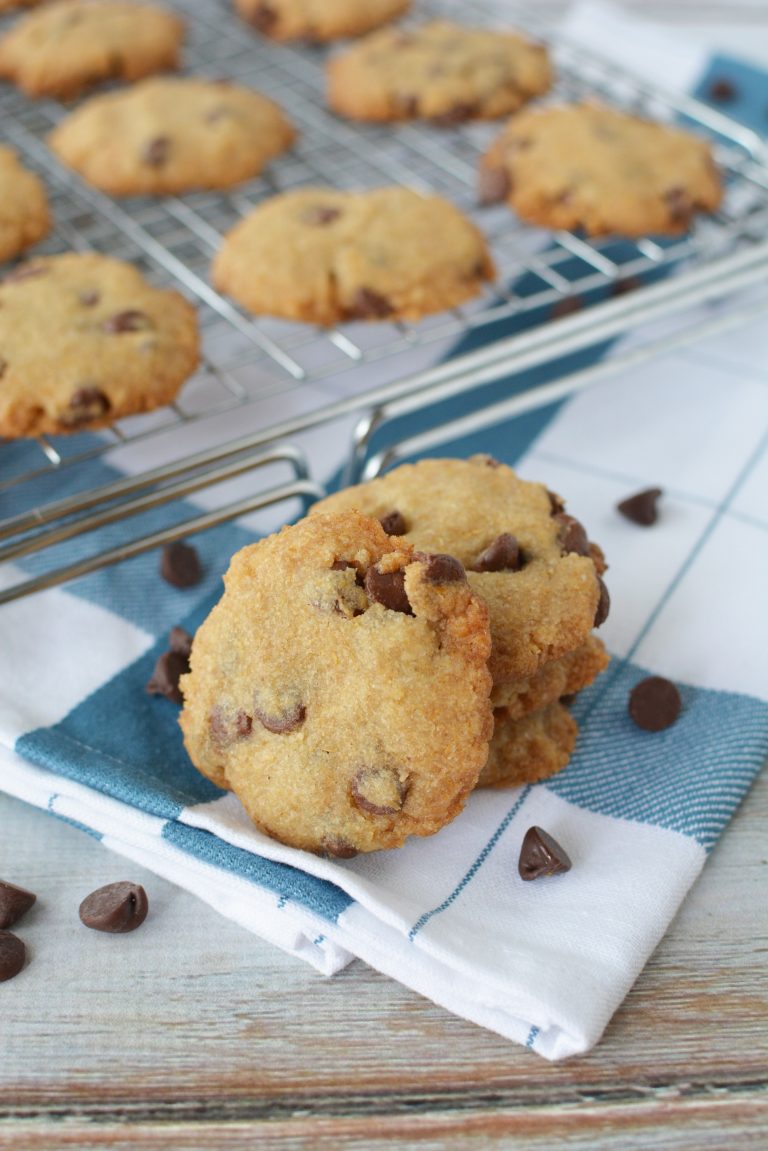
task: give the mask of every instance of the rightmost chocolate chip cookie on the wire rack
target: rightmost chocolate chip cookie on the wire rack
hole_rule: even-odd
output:
[[[709,144],[599,104],[527,108],[480,166],[484,203],[547,228],[676,235],[722,199]]]

